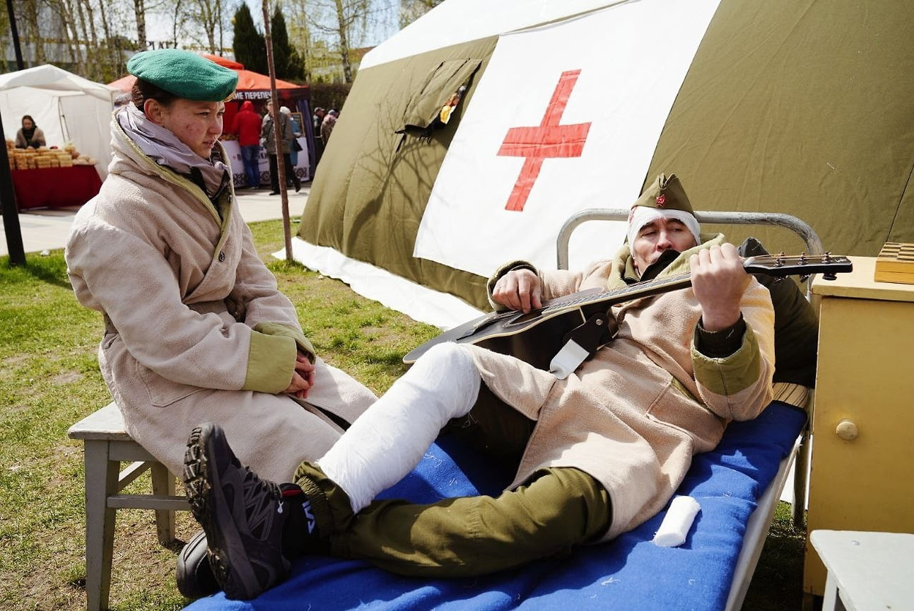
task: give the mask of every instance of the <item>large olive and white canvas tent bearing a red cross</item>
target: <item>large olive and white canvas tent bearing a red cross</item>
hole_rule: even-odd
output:
[[[497,265],[555,266],[564,220],[665,172],[696,209],[874,256],[914,241],[912,27],[903,0],[447,0],[363,59],[294,255],[448,327]],[[753,231],[802,247],[783,232]],[[572,268],[623,236],[582,227]]]

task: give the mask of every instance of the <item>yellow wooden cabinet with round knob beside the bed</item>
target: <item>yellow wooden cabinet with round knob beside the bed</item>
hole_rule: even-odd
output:
[[[874,281],[875,258],[813,283],[819,361],[807,533],[914,532],[914,284]],[[803,590],[825,568],[806,540]]]

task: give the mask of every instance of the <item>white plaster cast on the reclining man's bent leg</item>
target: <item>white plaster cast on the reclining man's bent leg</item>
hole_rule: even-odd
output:
[[[457,344],[431,348],[363,413],[318,465],[349,496],[353,511],[419,464],[441,427],[466,415],[482,378]]]

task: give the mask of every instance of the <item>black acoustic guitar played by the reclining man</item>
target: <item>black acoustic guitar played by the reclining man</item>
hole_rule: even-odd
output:
[[[781,277],[822,273],[826,280],[834,280],[836,273],[850,272],[853,264],[847,257],[826,252],[823,255],[769,254],[748,257],[743,260],[743,267],[754,275]],[[553,357],[565,346],[569,334],[576,329],[590,325],[592,329],[583,327],[587,334],[596,337],[602,333],[606,341],[611,339],[614,331],[607,331],[608,327],[614,325],[614,320],[609,316],[611,306],[675,291],[691,284],[692,278],[689,273],[679,273],[610,290],[593,288],[564,295],[550,299],[542,307],[526,314],[516,310],[487,314],[459,327],[453,327],[413,348],[403,357],[403,362],[413,363],[432,346],[453,341],[458,344],[476,344],[494,352],[510,354],[534,367],[550,370]],[[593,351],[606,341],[591,342],[587,349],[592,355]]]

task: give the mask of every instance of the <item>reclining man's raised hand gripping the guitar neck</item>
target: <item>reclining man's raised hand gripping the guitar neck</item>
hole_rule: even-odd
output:
[[[749,284],[736,246],[725,243],[693,254],[689,260],[692,290],[701,304],[701,325],[719,331],[739,320],[739,299]]]

